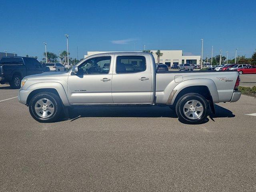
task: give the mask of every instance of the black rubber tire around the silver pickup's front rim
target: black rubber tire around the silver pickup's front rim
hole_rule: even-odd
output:
[[[52,105],[54,106],[54,111],[52,112],[52,115],[48,118],[43,118],[38,116],[38,114],[36,114],[36,111],[35,111],[36,102],[44,98],[50,100],[52,102]],[[38,93],[34,95],[29,102],[29,112],[31,116],[34,118],[34,120],[40,123],[56,122],[61,117],[62,111],[63,111],[63,106],[62,106],[60,97],[51,92]]]

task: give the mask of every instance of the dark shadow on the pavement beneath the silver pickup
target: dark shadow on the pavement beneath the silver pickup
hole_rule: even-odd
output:
[[[232,118],[235,115],[228,109],[215,106],[216,114],[210,112],[210,119]],[[132,118],[178,118],[176,112],[168,106],[86,106],[82,108],[70,108],[68,120],[74,121],[86,117],[132,117]],[[67,119],[66,119],[67,120]],[[202,124],[208,122],[206,118]]]

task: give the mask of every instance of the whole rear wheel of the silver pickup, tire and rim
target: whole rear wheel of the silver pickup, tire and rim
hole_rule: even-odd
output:
[[[176,104],[176,114],[184,123],[200,124],[207,118],[208,112],[209,104],[200,94],[185,94]]]

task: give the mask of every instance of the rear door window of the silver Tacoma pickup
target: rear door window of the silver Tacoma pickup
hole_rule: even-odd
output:
[[[116,59],[116,73],[136,73],[146,70],[144,56],[118,56]]]

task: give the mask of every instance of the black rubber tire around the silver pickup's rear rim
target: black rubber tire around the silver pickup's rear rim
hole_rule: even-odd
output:
[[[184,113],[185,104],[191,100],[199,101],[200,104],[202,104],[202,108],[203,108],[202,114],[200,114],[199,112],[200,116],[196,119],[191,119],[193,118],[192,117],[193,115],[190,118],[188,118]],[[198,105],[200,106],[200,104]],[[176,104],[176,114],[179,117],[179,120],[186,124],[200,124],[207,118],[208,113],[209,113],[208,101],[200,94],[196,94],[196,93],[185,94],[180,97],[180,99]]]

